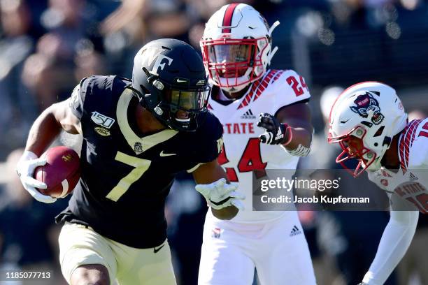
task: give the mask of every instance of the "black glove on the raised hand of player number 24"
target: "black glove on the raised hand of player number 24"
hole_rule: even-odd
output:
[[[287,145],[292,138],[290,126],[278,122],[276,117],[268,113],[259,115],[257,126],[264,129],[264,133],[259,136],[260,141],[268,145]]]

